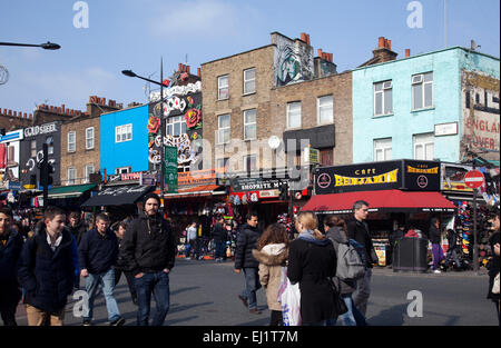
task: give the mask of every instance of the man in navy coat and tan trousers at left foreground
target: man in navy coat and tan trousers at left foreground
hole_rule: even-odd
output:
[[[18,277],[24,288],[29,326],[62,326],[75,279],[75,239],[65,229],[66,213],[47,207],[45,228],[22,247]]]

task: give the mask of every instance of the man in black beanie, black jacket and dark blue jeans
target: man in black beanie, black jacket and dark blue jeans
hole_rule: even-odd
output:
[[[135,275],[137,325],[149,325],[151,294],[157,304],[153,326],[161,326],[170,306],[169,272],[176,257],[175,236],[170,225],[158,211],[160,198],[148,193],[145,212],[134,219],[124,233],[121,256],[126,269]]]

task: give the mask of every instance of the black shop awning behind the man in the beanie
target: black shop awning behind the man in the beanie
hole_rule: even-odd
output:
[[[82,207],[134,205],[146,193],[153,191],[154,186],[121,185],[106,187],[96,196],[84,202]]]

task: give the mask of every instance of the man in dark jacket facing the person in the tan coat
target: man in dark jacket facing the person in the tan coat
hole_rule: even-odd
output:
[[[261,314],[257,309],[256,291],[261,288],[259,284],[259,262],[253,256],[253,249],[257,249],[257,240],[261,231],[257,229],[257,215],[248,213],[247,223],[238,232],[235,250],[235,272],[239,274],[242,269],[245,275],[246,288],[238,295],[245,307],[250,314]]]

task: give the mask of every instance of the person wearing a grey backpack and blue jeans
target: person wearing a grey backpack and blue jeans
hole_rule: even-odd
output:
[[[352,294],[356,290],[356,280],[365,275],[363,247],[353,239],[348,240],[346,229],[346,222],[336,216],[330,215],[324,220],[324,230],[337,255],[336,277],[340,279],[341,298],[347,308],[347,312],[340,318],[344,326],[365,326],[365,318],[356,309],[352,298]],[[357,245],[358,250],[353,245]],[[335,325],[335,320],[328,324]]]

